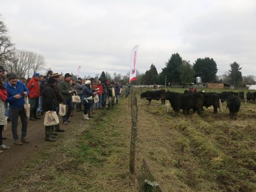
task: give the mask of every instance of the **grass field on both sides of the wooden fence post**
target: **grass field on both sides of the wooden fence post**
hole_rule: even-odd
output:
[[[140,90],[137,90],[138,94]],[[31,156],[3,192],[136,192],[145,158],[163,192],[255,192],[256,105],[242,103],[238,119],[226,108],[172,117],[173,110],[138,96],[136,173],[129,173],[131,108],[77,121],[71,134]]]

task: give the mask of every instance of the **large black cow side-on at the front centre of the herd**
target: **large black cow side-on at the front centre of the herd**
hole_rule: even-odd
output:
[[[183,114],[185,114],[185,111],[189,114],[189,110],[191,108],[193,109],[193,113],[197,112],[200,115],[204,103],[204,96],[195,92],[179,94],[167,91],[165,98],[170,101],[171,107],[175,111],[176,115],[180,109],[183,109]]]

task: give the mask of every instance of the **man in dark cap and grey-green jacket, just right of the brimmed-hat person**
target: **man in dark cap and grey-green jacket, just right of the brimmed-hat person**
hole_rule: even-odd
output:
[[[62,117],[62,121],[63,121],[64,125],[67,125],[68,122],[71,122],[71,120],[69,120],[69,117],[70,117],[71,111],[73,109],[72,91],[71,91],[72,87],[71,87],[71,84],[69,83],[71,77],[72,77],[72,75],[70,73],[66,73],[64,75],[64,79],[59,84],[61,94],[65,99],[63,104],[68,106],[67,114]]]

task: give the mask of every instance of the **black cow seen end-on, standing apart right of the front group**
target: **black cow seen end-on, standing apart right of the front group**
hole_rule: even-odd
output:
[[[237,113],[240,109],[241,101],[237,96],[231,95],[227,101],[227,108],[229,108],[229,115],[231,119],[237,119]]]

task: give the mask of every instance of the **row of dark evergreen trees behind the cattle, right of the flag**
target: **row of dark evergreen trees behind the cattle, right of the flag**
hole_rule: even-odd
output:
[[[155,65],[151,64],[150,69],[142,74],[140,84],[162,84],[165,85],[186,85],[195,83],[196,77],[201,77],[202,83],[218,80],[235,86],[246,86],[256,84],[254,75],[242,76],[242,67],[234,61],[230,64],[230,70],[226,74],[217,76],[217,63],[213,58],[198,58],[193,64],[183,60],[178,53],[171,55],[165,63],[165,67],[158,73]]]

